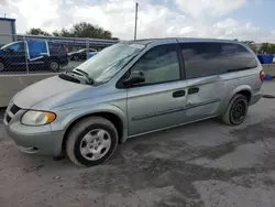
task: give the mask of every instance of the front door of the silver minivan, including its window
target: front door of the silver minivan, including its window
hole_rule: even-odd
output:
[[[129,135],[185,121],[186,81],[178,57],[177,44],[156,46],[131,68],[143,72],[145,83],[128,89]]]

